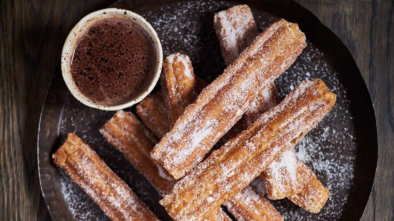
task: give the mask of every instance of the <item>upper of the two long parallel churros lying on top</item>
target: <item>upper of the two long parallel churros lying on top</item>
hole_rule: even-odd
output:
[[[247,110],[258,85],[279,76],[305,46],[297,24],[279,20],[269,26],[185,109],[152,158],[175,179],[184,176]]]

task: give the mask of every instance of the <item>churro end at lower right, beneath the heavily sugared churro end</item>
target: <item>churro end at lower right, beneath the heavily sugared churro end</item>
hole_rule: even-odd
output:
[[[297,169],[304,187],[301,192],[287,198],[304,210],[312,213],[320,212],[330,195],[329,190],[301,160],[297,160]]]

